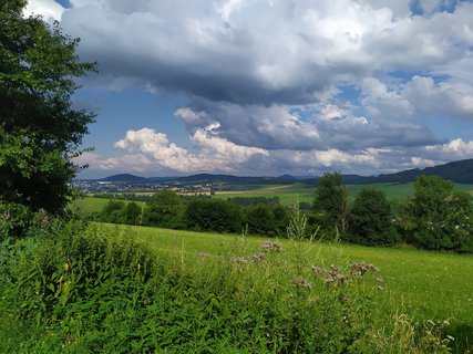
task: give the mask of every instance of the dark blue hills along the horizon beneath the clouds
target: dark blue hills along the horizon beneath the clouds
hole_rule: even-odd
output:
[[[426,168],[415,168],[399,171],[395,174],[382,174],[379,176],[359,176],[343,175],[343,181],[348,185],[368,185],[368,184],[404,184],[414,181],[419,175],[439,175],[445,179],[457,184],[473,184],[473,158],[464,159],[444,165],[438,165]],[[206,184],[206,183],[223,183],[223,184],[255,184],[255,185],[288,185],[299,181],[307,185],[318,183],[318,177],[300,179],[291,175],[282,175],[279,177],[245,177],[233,175],[213,175],[197,174],[186,177],[150,177],[144,178],[130,174],[113,175],[95,181],[111,183],[182,183],[182,184]]]

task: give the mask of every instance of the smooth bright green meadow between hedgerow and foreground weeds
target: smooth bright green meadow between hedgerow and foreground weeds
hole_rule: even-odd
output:
[[[116,228],[119,232],[132,230],[153,249],[178,252],[186,267],[191,268],[195,257],[246,257],[258,251],[265,241],[259,237],[243,238],[146,227],[104,227]],[[300,243],[280,241],[288,261],[298,257]],[[470,343],[473,341],[473,282],[470,281],[473,256],[325,242],[304,242],[302,247],[308,252],[310,264],[315,266],[356,261],[373,263],[380,268],[383,287],[391,293],[392,301],[402,303],[419,321],[448,320],[454,333],[469,335]]]

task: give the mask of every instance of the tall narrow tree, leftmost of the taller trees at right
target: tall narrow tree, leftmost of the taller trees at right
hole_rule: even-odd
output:
[[[339,173],[325,174],[316,188],[313,209],[320,214],[325,227],[338,232],[348,230],[348,192]]]

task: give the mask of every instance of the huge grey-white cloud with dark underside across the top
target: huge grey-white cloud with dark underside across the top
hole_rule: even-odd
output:
[[[103,77],[238,104],[313,102],[330,84],[442,65],[472,44],[470,3],[428,19],[407,1],[71,3],[62,25]]]

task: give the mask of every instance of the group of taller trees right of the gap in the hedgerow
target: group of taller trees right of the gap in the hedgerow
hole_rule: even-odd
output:
[[[414,197],[391,204],[373,189],[363,189],[353,204],[340,174],[327,174],[316,190],[312,218],[329,233],[368,246],[399,242],[423,249],[473,252],[473,207],[469,194],[439,176],[420,176]]]

